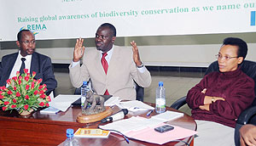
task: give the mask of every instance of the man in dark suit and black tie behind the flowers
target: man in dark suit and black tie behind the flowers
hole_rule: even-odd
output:
[[[49,95],[55,87],[57,81],[52,70],[51,59],[40,53],[36,53],[36,40],[32,31],[22,30],[17,35],[17,46],[20,48],[18,53],[11,53],[3,56],[0,65],[0,86],[6,86],[6,80],[16,76],[16,72],[20,71],[22,65],[32,75],[35,71],[37,75],[35,79],[42,78],[41,84],[47,86],[46,94]]]

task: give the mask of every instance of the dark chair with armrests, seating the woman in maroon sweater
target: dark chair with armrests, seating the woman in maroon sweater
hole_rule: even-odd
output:
[[[247,74],[247,76],[250,76],[253,78],[253,81],[256,84],[256,62],[244,60],[241,64],[241,70]],[[218,71],[218,61],[213,62],[209,67],[207,68],[206,74],[209,74],[212,71]],[[256,93],[256,86],[254,87],[254,92]],[[184,104],[187,104],[186,102],[186,96],[183,98],[177,99],[171,107],[173,109],[178,110],[180,107],[182,107]],[[244,110],[239,115],[237,121],[236,121],[236,127],[235,127],[235,143],[236,146],[240,145],[240,134],[239,129],[241,126],[245,124],[253,124],[256,125],[256,98],[253,100],[253,104],[247,108],[247,110]]]

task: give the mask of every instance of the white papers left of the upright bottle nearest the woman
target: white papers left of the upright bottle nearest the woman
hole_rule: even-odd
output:
[[[119,104],[116,105],[119,106],[120,109],[127,109],[129,111],[154,110],[154,107],[138,100],[119,102]]]

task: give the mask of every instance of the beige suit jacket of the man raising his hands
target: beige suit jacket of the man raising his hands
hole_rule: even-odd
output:
[[[70,70],[73,87],[80,87],[83,81],[91,81],[97,94],[108,93],[122,99],[135,100],[136,90],[134,81],[141,87],[149,87],[151,76],[148,70],[141,73],[133,61],[131,49],[113,47],[113,54],[109,61],[108,72],[105,74],[101,63],[101,52],[87,49],[84,53],[83,65],[74,66]]]

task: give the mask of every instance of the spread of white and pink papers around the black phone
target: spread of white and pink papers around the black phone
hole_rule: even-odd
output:
[[[132,116],[129,119],[113,121],[100,127],[105,130],[113,129],[119,131],[128,138],[135,138],[148,143],[163,144],[172,140],[187,138],[197,133],[179,126],[174,126],[174,129],[169,132],[160,133],[154,131],[154,127],[166,125],[163,122],[171,121],[181,116],[183,116],[183,113],[166,111],[165,113],[154,115],[150,119]]]

